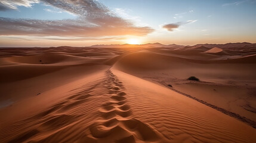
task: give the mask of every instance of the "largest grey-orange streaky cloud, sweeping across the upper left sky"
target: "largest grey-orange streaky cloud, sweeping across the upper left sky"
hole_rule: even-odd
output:
[[[16,9],[19,4],[30,7],[33,2],[38,1],[21,0],[2,2],[2,4],[5,7],[13,5],[13,9]],[[31,20],[0,17],[0,35],[80,36],[85,38],[115,35],[143,36],[153,32],[151,27],[135,26],[131,21],[119,17],[98,1],[41,0],[41,2],[78,15],[78,18],[75,20]]]

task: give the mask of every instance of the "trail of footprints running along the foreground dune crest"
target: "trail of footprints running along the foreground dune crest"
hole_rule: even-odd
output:
[[[127,104],[124,86],[110,70],[106,71],[109,80],[104,85],[111,95],[109,102],[99,109],[101,117],[90,126],[93,138],[103,142],[157,141],[158,133],[148,125],[132,118]]]

